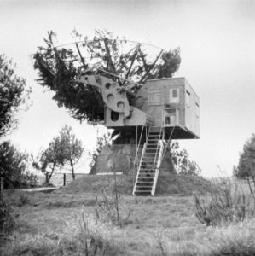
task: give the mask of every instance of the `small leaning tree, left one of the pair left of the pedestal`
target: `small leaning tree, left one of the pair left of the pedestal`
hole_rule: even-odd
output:
[[[38,153],[37,159],[33,160],[32,166],[43,172],[46,177],[46,184],[49,184],[55,170],[65,164],[65,154],[62,146],[60,137],[55,137],[49,143],[48,148]]]

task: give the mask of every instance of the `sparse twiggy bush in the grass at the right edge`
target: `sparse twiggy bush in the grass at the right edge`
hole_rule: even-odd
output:
[[[254,215],[255,197],[245,195],[229,178],[214,182],[214,189],[205,198],[194,194],[196,217],[202,224],[236,223]]]

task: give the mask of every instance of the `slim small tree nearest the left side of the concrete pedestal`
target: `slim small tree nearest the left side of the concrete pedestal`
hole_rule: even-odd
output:
[[[78,163],[84,152],[83,143],[75,137],[72,127],[68,125],[62,128],[59,138],[65,163],[71,166],[72,179],[74,180],[74,166]]]

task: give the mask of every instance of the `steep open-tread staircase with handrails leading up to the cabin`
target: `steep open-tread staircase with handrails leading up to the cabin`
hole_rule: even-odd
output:
[[[133,195],[154,195],[163,158],[162,127],[150,126],[136,175]]]

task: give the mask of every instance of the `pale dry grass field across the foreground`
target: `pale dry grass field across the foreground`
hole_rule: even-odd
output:
[[[255,255],[254,219],[206,227],[195,217],[192,195],[123,193],[120,213],[131,214],[119,227],[96,218],[95,193],[100,195],[100,188],[91,190],[87,184],[84,189],[84,183],[81,179],[49,194],[6,192],[15,229],[6,236],[0,254]]]

